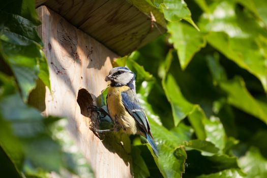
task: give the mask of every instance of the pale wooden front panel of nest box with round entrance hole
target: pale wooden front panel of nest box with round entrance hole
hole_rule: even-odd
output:
[[[117,54],[45,6],[37,11],[51,81],[45,107],[39,108],[45,115],[68,118],[68,130],[96,177],[132,177],[129,137],[110,133],[101,141],[90,130],[95,114],[86,109],[107,86],[104,78]]]

